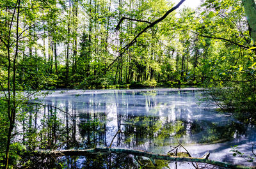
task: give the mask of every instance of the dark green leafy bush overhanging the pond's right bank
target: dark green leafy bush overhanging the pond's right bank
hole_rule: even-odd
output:
[[[255,82],[230,82],[226,87],[209,89],[205,96],[209,102],[218,105],[225,112],[230,112],[237,119],[255,123],[255,92]]]

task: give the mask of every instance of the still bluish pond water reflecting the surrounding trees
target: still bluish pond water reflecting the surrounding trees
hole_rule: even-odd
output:
[[[229,114],[207,107],[200,101],[201,94],[199,89],[189,88],[54,91],[40,98],[46,106],[40,112],[42,117],[56,112],[67,140],[76,142],[73,146],[65,143],[62,149],[108,146],[121,130],[112,147],[166,154],[172,149],[170,146],[180,142],[193,157],[200,158],[210,152],[209,159],[250,165],[242,158],[233,157],[230,150],[231,146],[239,145],[239,151],[251,154],[252,143],[256,142],[255,126],[242,124]],[[40,126],[40,121],[37,123]],[[122,159],[132,161],[127,158]],[[85,160],[88,159],[76,159],[76,166],[81,167]],[[107,166],[104,163],[102,168]]]

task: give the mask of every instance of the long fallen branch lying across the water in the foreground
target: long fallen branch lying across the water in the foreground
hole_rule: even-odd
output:
[[[162,154],[154,154],[151,152],[145,152],[140,150],[131,150],[131,149],[118,149],[118,148],[94,148],[94,149],[84,149],[84,150],[62,150],[62,151],[35,151],[32,152],[34,156],[86,156],[89,154],[102,154],[102,153],[116,153],[116,154],[131,154],[134,156],[143,156],[149,159],[164,159],[167,161],[173,162],[196,162],[196,163],[207,163],[215,166],[222,166],[225,168],[256,168],[255,166],[242,166],[242,165],[233,165],[230,163],[224,163],[220,161],[213,161],[211,159],[204,158],[190,158],[190,157],[179,157],[179,156],[168,156]]]

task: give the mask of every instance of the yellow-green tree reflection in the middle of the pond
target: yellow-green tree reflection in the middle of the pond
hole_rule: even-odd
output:
[[[168,122],[161,121],[160,117],[143,117],[130,115],[124,119],[124,143],[127,147],[131,145],[141,145],[143,143],[149,146],[163,146],[165,139],[175,136],[183,128],[180,121]]]

